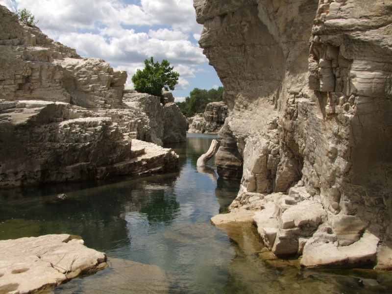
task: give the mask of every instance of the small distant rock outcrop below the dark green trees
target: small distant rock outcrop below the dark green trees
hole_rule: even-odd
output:
[[[227,105],[224,102],[208,103],[203,114],[188,119],[188,133],[218,133],[227,115]]]

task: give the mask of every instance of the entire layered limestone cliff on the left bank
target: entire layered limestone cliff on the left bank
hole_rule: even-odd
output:
[[[123,97],[126,77],[0,5],[0,186],[175,169],[172,150],[131,140],[184,141],[185,117],[157,97]]]

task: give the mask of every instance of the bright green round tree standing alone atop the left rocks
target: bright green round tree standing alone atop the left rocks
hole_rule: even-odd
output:
[[[164,103],[163,89],[166,91],[174,90],[175,85],[178,83],[179,73],[173,72],[173,67],[164,59],[162,63],[155,62],[151,57],[150,60],[144,61],[146,67],[132,76],[132,83],[136,91],[140,93],[147,93],[150,95],[158,96],[161,102]]]

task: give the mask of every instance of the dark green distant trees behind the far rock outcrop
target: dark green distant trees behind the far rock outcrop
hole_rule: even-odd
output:
[[[195,116],[196,113],[204,112],[205,107],[210,102],[222,101],[223,87],[205,90],[195,88],[190,93],[190,97],[184,102],[176,102],[183,115],[187,118]]]

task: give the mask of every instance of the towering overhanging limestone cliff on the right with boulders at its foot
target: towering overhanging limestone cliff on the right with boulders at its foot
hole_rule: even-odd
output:
[[[258,198],[266,245],[303,253],[305,267],[392,268],[392,1],[194,5],[229,110],[220,136],[235,141],[221,144],[218,169],[244,162],[232,208]],[[267,205],[296,183],[288,203]]]

